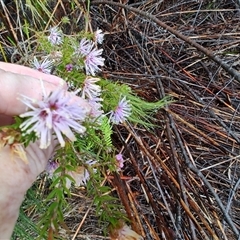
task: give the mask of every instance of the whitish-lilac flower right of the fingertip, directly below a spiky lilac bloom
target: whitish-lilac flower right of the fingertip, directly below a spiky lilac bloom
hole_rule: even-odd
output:
[[[99,78],[92,78],[87,77],[84,80],[83,88],[82,88],[82,97],[83,98],[95,98],[98,97],[101,94],[101,87],[97,84],[100,79]]]

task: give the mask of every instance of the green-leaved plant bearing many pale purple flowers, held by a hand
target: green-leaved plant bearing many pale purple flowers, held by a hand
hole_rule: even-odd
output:
[[[126,160],[124,152],[119,153],[112,143],[112,127],[125,122],[151,126],[147,122],[149,116],[169,100],[146,103],[128,85],[96,77],[105,61],[101,48],[104,34],[100,29],[91,34],[68,36],[58,27],[52,27],[47,33],[36,49],[41,58],[34,57],[29,66],[63,78],[69,89],[59,86],[47,94],[43,86],[41,100],[20,96],[20,101],[28,107],[20,115],[20,132],[24,139],[34,134],[31,141],[39,139],[41,149],[47,148],[53,139],[58,142],[57,153],[46,168],[47,176],[53,180],[53,202],[62,202],[71,187],[83,185],[91,189],[101,219],[113,222],[121,216],[118,211],[121,206],[106,213],[109,203],[115,200],[109,196],[109,202],[106,201],[111,191],[101,184],[106,171],[108,174],[124,171]],[[54,192],[55,187],[64,189],[62,195]],[[49,207],[46,212],[51,219],[46,226],[57,225],[58,219],[52,218],[58,216],[54,211],[55,208]]]

